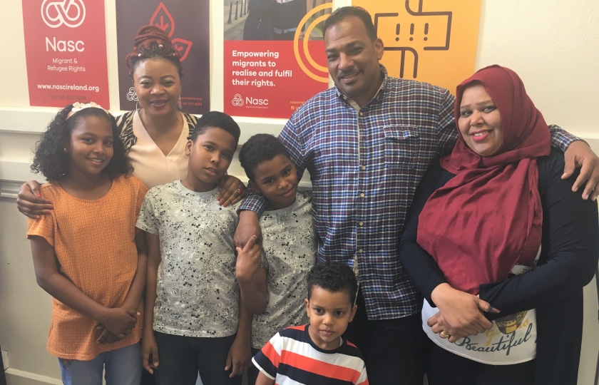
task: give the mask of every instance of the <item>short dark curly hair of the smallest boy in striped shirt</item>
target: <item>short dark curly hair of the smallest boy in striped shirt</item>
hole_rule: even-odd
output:
[[[322,287],[327,292],[347,292],[349,301],[354,304],[358,294],[358,280],[351,267],[339,262],[324,262],[314,265],[308,272],[308,299],[312,287]]]

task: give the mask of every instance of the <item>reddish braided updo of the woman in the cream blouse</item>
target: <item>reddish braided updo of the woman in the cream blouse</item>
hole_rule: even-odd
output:
[[[139,29],[135,35],[133,51],[125,58],[125,62],[129,68],[129,76],[133,78],[133,72],[135,72],[138,64],[149,58],[165,58],[177,67],[179,78],[183,77],[183,66],[180,61],[181,54],[177,51],[173,42],[170,41],[168,34],[151,24]]]

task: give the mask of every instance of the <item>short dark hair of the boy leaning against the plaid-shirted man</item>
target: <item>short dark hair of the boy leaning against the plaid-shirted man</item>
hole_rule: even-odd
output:
[[[254,180],[254,172],[258,165],[266,160],[272,160],[277,155],[285,155],[291,160],[287,148],[275,136],[256,134],[241,146],[239,161],[247,178]]]

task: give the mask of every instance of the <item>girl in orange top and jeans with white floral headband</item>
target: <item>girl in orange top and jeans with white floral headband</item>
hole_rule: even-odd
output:
[[[36,279],[53,297],[48,351],[64,384],[139,384],[147,252],[135,231],[147,188],[133,176],[115,120],[95,103],[48,125],[32,170],[49,183],[50,215],[30,219]]]

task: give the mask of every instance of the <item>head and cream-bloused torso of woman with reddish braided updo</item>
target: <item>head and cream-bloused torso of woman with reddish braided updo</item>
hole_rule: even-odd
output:
[[[118,117],[117,124],[135,174],[148,188],[185,178],[185,143],[198,119],[177,111],[183,77],[179,51],[162,29],[143,26],[125,61],[139,107]]]

